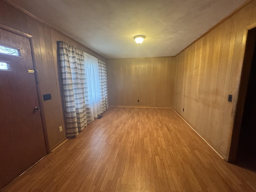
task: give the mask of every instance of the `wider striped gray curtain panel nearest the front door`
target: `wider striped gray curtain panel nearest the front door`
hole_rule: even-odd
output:
[[[84,53],[66,42],[58,42],[66,107],[67,137],[76,136],[90,123]]]

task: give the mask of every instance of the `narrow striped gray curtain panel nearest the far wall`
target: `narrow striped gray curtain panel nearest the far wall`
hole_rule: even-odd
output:
[[[108,109],[107,70],[105,62],[98,60],[102,112]]]

